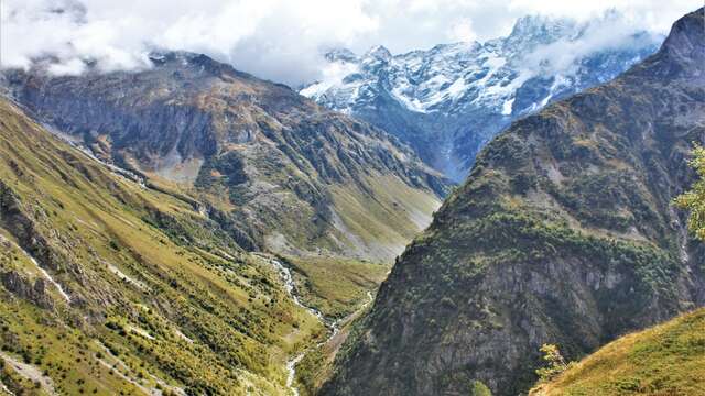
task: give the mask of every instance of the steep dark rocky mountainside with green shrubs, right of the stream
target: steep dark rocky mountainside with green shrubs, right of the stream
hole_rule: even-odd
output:
[[[517,121],[382,285],[324,395],[496,395],[705,302],[705,250],[671,201],[705,141],[704,10],[611,82]]]

